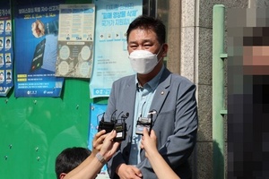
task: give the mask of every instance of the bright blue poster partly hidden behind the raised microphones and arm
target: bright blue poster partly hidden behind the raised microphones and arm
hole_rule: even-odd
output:
[[[98,132],[98,125],[101,120],[102,115],[105,113],[107,109],[107,104],[90,104],[90,126],[89,126],[89,141],[88,141],[88,149],[92,149],[92,141],[94,135]],[[100,170],[99,175],[107,175],[108,168],[107,166],[103,166]]]

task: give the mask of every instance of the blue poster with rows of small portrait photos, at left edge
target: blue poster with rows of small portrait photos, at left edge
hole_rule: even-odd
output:
[[[13,27],[9,2],[0,7],[0,96],[13,88]]]

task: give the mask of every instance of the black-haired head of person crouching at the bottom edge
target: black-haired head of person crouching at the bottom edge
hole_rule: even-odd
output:
[[[56,177],[63,179],[67,173],[79,166],[82,161],[91,155],[91,150],[81,147],[64,149],[56,157]]]

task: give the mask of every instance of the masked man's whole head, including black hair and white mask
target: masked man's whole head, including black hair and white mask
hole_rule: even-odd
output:
[[[163,59],[168,53],[164,23],[151,16],[138,16],[130,23],[126,39],[129,60],[134,72],[138,74],[138,81],[142,81],[144,74],[148,76],[144,78],[146,81],[152,80],[161,71]],[[152,57],[141,58],[146,55]],[[143,86],[146,81],[141,85]]]

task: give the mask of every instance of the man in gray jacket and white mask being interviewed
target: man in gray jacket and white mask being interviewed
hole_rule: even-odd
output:
[[[165,38],[164,24],[149,16],[137,17],[127,30],[129,60],[136,73],[115,81],[108,98],[105,120],[124,119],[127,129],[126,140],[108,161],[111,178],[157,178],[140,149],[141,119],[152,120],[149,129],[156,133],[162,158],[180,178],[191,178],[187,158],[198,125],[195,84],[164,66]]]

